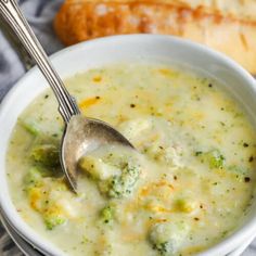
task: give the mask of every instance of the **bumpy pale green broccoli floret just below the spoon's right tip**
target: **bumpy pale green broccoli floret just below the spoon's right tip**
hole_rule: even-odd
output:
[[[120,176],[114,176],[107,180],[106,193],[110,197],[124,197],[135,189],[140,176],[140,167],[127,163]]]

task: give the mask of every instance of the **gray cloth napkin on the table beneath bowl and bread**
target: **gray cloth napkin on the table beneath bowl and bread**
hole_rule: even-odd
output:
[[[63,48],[52,29],[52,20],[62,0],[20,0],[20,5],[29,24],[49,54]],[[0,101],[24,73],[23,64],[0,33]],[[1,223],[0,256],[22,256]],[[256,256],[256,241],[246,249],[243,256]]]

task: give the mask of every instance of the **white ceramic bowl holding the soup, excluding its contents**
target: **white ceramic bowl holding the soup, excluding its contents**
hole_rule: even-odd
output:
[[[131,35],[97,39],[67,48],[52,56],[52,62],[63,78],[77,72],[113,62],[161,62],[182,64],[221,80],[248,113],[256,127],[256,85],[254,78],[236,63],[203,46],[170,36]],[[18,115],[48,87],[38,71],[29,71],[9,92],[0,107],[0,207],[15,230],[47,255],[64,253],[33,230],[16,212],[8,187],[5,152]],[[17,170],[18,171],[18,170]],[[256,203],[243,226],[228,239],[201,253],[221,256],[234,251],[256,231]]]

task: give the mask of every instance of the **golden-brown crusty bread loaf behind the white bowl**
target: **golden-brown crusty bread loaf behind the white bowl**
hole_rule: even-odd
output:
[[[66,46],[119,34],[176,35],[219,50],[256,74],[255,0],[66,0],[54,27]]]

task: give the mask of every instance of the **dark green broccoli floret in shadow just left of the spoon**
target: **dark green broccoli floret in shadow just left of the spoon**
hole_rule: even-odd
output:
[[[39,144],[34,146],[31,150],[31,158],[46,166],[46,167],[57,167],[60,165],[59,148],[54,144]]]

